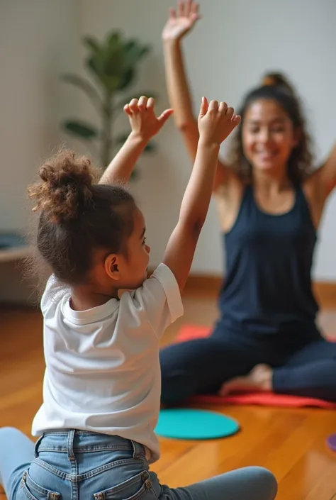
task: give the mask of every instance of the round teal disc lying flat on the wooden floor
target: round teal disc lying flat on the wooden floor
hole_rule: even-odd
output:
[[[233,418],[215,411],[196,409],[164,409],[159,413],[155,432],[163,438],[225,438],[240,430]]]

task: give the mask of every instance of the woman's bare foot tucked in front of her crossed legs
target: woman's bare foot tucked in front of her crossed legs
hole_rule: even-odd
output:
[[[268,365],[257,365],[245,377],[235,377],[220,387],[220,396],[232,392],[266,392],[272,390],[271,379],[273,370]]]

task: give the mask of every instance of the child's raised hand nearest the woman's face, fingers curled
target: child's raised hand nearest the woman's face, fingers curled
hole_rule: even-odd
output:
[[[202,98],[198,116],[199,140],[208,145],[220,145],[240,123],[240,116],[225,102]]]

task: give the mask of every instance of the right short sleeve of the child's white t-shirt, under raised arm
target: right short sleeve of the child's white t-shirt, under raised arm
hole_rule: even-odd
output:
[[[152,276],[135,291],[134,299],[145,312],[157,337],[161,337],[184,312],[179,285],[165,264],[159,264]]]

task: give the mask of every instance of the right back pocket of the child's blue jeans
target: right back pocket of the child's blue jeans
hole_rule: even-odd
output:
[[[113,488],[94,494],[94,500],[157,500],[150,474],[140,472]]]

